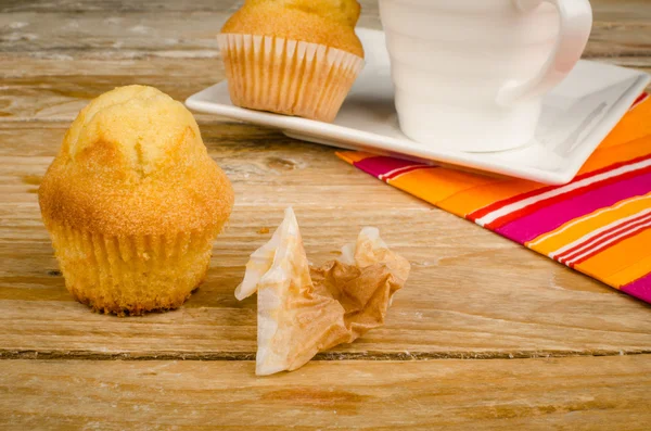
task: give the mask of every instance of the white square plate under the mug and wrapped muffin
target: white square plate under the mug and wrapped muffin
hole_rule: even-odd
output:
[[[533,141],[515,150],[468,153],[436,142],[414,142],[400,132],[384,33],[359,29],[358,35],[367,64],[333,124],[234,106],[226,81],[191,96],[186,104],[199,112],[276,127],[310,142],[561,185],[574,178],[651,81],[638,71],[580,61],[546,97]]]

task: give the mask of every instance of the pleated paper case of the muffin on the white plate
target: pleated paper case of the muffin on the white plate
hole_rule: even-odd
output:
[[[220,34],[233,104],[331,123],[363,67],[349,52],[272,36]]]

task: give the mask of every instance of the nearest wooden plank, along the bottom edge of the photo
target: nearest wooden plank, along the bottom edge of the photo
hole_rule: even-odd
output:
[[[311,363],[3,360],[0,428],[648,430],[651,357]]]

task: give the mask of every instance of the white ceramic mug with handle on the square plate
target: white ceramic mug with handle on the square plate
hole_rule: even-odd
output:
[[[592,26],[588,0],[380,0],[380,13],[403,132],[477,152],[534,138]]]

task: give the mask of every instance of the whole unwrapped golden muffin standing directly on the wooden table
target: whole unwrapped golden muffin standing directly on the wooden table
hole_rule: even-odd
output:
[[[39,204],[69,292],[139,315],[179,307],[202,282],[233,190],[181,103],[128,86],[81,110]]]

